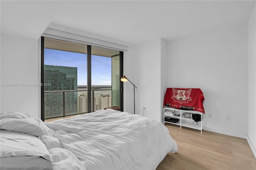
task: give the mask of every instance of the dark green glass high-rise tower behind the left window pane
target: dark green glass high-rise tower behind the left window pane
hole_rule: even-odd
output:
[[[44,65],[44,91],[77,90],[77,68]],[[75,114],[78,110],[77,92],[64,92],[65,114]],[[45,118],[63,115],[63,92],[44,92]]]

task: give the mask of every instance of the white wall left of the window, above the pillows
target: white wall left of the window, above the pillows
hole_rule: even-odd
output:
[[[1,83],[39,83],[39,41],[1,34]],[[38,86],[1,86],[0,112],[39,117]]]

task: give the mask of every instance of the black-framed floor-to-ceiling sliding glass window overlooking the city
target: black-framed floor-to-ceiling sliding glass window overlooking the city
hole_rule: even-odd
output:
[[[45,37],[41,52],[42,120],[110,106],[122,110],[122,52]]]

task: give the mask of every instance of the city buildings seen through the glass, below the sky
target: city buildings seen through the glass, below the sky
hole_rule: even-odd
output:
[[[52,65],[44,65],[44,68],[44,80],[52,84],[44,89],[45,118],[88,112],[87,87],[79,88],[84,91],[69,91],[78,89],[77,68]],[[112,104],[111,90],[107,90],[107,85],[102,86],[92,88],[92,112],[110,107]],[[110,93],[106,93],[107,91]]]

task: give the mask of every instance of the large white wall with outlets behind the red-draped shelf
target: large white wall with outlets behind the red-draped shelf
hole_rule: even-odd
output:
[[[247,23],[168,43],[168,87],[201,88],[204,130],[246,138],[247,52]]]

